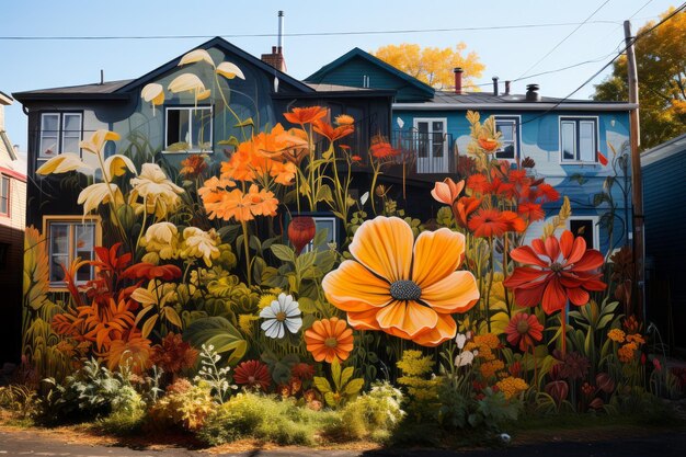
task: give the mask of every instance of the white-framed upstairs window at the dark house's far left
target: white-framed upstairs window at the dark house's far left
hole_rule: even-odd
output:
[[[47,160],[62,152],[79,153],[81,122],[81,113],[44,113],[41,116],[38,160]]]

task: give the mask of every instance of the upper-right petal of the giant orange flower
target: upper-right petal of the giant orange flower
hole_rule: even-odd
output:
[[[422,289],[445,278],[460,263],[465,252],[465,236],[442,228],[423,231],[414,245],[412,281]]]

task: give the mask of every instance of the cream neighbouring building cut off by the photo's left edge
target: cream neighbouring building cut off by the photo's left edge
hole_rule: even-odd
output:
[[[0,92],[0,307],[9,322],[19,322],[22,300],[26,163],[18,156],[4,129],[4,106],[12,98]],[[21,327],[4,325],[0,333],[0,365],[18,362]]]

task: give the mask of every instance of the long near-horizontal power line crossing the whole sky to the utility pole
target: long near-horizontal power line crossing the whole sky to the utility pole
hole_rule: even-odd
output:
[[[609,0],[607,0],[609,1]],[[285,37],[301,36],[341,36],[341,35],[392,35],[407,33],[436,33],[436,32],[478,32],[516,28],[541,28],[560,27],[583,24],[620,24],[618,21],[591,21],[591,22],[557,22],[547,24],[511,24],[511,25],[489,25],[477,27],[453,27],[453,28],[415,28],[415,30],[376,30],[356,32],[296,32],[285,33]],[[0,36],[0,41],[114,41],[114,39],[187,39],[187,38],[214,38],[216,35],[105,35],[105,36]],[[264,38],[276,37],[276,33],[252,33],[252,34],[226,34],[219,35],[222,38]]]

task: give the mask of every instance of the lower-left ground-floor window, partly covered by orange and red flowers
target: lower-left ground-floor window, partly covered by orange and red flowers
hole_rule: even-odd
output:
[[[77,259],[93,260],[98,221],[55,217],[46,220],[48,236],[50,287],[65,287],[65,271]],[[64,267],[64,269],[62,269]],[[76,283],[93,278],[93,266],[84,265],[76,273]]]

